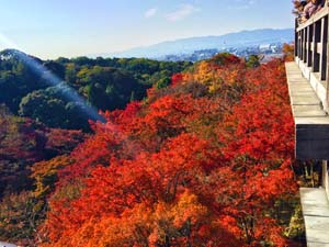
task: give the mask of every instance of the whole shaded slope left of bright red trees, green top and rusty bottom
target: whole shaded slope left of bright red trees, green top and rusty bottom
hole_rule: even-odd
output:
[[[91,134],[89,120],[100,120],[90,111],[124,109],[190,66],[139,58],[41,60],[1,52],[0,240],[34,245],[57,169],[72,162],[70,151]]]

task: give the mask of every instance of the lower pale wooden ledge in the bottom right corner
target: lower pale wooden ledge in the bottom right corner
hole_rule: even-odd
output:
[[[307,246],[329,247],[329,202],[325,189],[300,188]]]

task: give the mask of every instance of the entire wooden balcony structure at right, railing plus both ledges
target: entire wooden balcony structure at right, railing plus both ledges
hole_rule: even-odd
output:
[[[328,4],[328,2],[327,2]],[[286,76],[295,121],[296,158],[322,160],[322,188],[300,188],[307,246],[329,246],[329,7],[296,25],[295,61]]]

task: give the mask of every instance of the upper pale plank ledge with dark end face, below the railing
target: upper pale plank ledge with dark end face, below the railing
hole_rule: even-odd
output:
[[[296,158],[329,160],[329,116],[296,63],[286,63],[285,68],[296,127]]]

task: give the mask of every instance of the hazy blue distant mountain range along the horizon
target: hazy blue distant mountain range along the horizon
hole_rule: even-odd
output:
[[[227,48],[241,48],[271,43],[290,43],[294,40],[294,30],[252,30],[237,33],[228,33],[220,36],[203,36],[181,38],[177,41],[162,42],[156,45],[136,47],[121,53],[98,54],[102,57],[148,57],[160,58],[166,55],[189,54],[200,49],[218,50]]]

